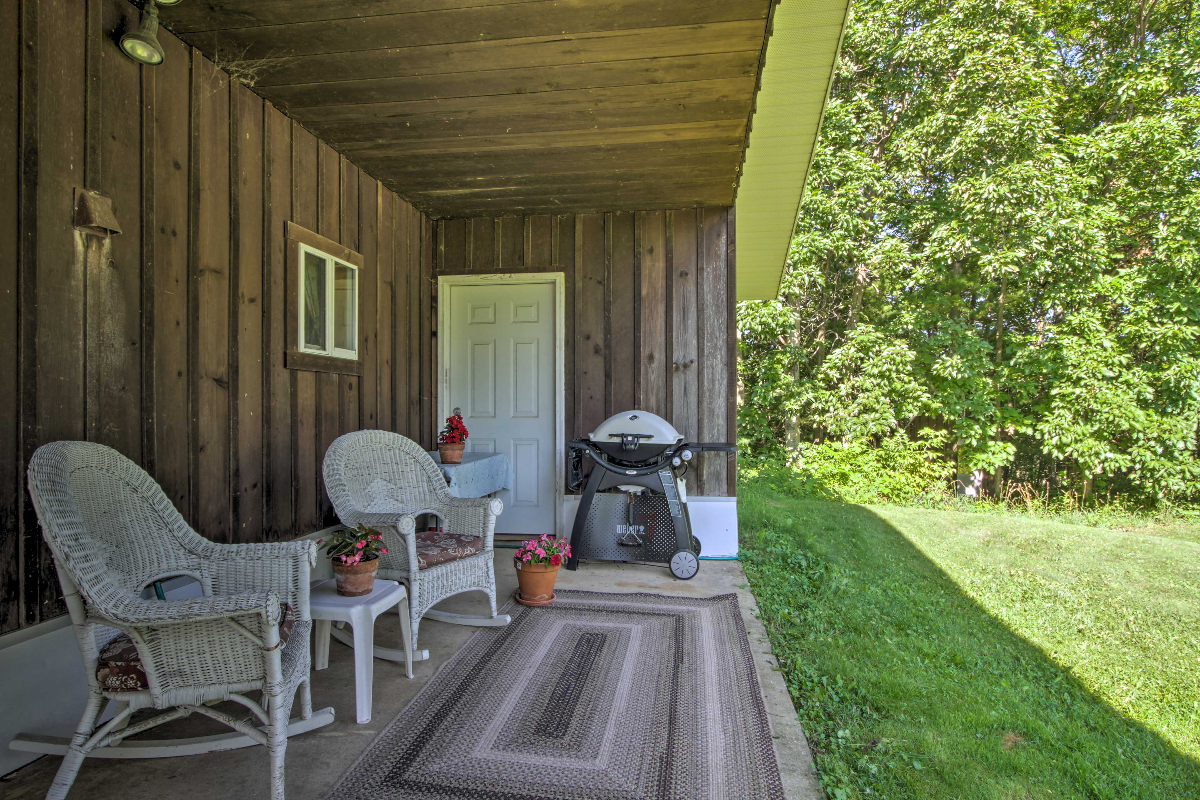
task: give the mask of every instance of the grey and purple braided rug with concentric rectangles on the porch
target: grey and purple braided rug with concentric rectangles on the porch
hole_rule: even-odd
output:
[[[344,800],[782,800],[736,595],[510,602],[376,738]]]

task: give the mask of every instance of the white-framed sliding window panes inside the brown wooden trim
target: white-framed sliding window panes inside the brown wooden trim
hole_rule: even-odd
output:
[[[300,349],[358,360],[359,269],[307,245],[300,254]]]

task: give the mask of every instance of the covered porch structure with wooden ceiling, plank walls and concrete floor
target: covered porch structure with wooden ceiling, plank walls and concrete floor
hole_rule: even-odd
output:
[[[0,114],[0,343],[14,354],[0,385],[12,409],[0,420],[0,685],[40,686],[42,673],[55,685],[49,699],[2,690],[0,740],[68,735],[86,694],[25,486],[48,443],[112,447],[197,533],[238,545],[328,535],[340,521],[323,461],[338,437],[384,431],[433,450],[460,407],[468,447],[511,463],[497,522],[511,536],[570,533],[580,495],[565,443],[611,415],[640,409],[686,441],[736,441],[734,303],[778,290],[847,8],[20,0],[0,11],[11,112]],[[119,42],[149,30],[155,11],[161,62],[139,65]],[[455,315],[456,296],[468,317]],[[500,323],[542,325],[541,338],[470,338]],[[736,458],[704,452],[690,467],[701,558],[716,560],[690,582],[589,563],[560,585],[737,595],[788,796],[816,796],[732,560]],[[511,553],[496,553],[502,603]],[[397,631],[386,615],[377,638]],[[312,691],[337,718],[290,740],[289,795],[324,796],[472,633],[430,621],[413,681],[378,661],[366,726],[353,722],[352,654],[335,643]],[[0,774],[30,758],[0,753]],[[257,747],[89,758],[72,796],[266,796],[264,759]],[[5,794],[44,793],[56,763],[13,772]]]

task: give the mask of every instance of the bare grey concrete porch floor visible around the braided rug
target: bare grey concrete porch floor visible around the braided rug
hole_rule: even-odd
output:
[[[511,565],[512,551],[497,549],[497,600],[504,604],[516,589]],[[788,800],[822,798],[812,772],[812,757],[782,676],[775,668],[766,631],[756,618],[758,609],[737,561],[703,561],[691,581],[677,581],[662,567],[589,563],[577,572],[559,572],[558,587],[596,591],[652,591],[665,595],[709,597],[736,593],[742,616],[755,654],[758,680],[774,728],[775,754]],[[451,597],[438,608],[460,613],[481,613],[482,595]],[[313,708],[332,705],[332,724],[299,735],[288,742],[287,795],[289,800],[323,798],[334,782],[354,762],[376,734],[391,722],[433,673],[454,655],[476,628],[448,625],[433,620],[421,622],[420,646],[428,648],[430,660],[413,664],[414,680],[404,678],[403,664],[376,660],[374,702],[367,724],[354,721],[354,655],[338,642],[330,644],[329,668],[313,674]],[[395,642],[396,644],[390,644]],[[394,613],[384,614],[376,626],[376,643],[400,646],[400,621]],[[82,709],[80,709],[82,710]],[[295,714],[295,710],[293,711]],[[173,727],[174,726],[174,727]],[[228,730],[209,720],[190,718],[162,726],[146,736],[200,735]],[[7,745],[7,742],[5,742]],[[32,800],[46,794],[60,758],[46,756],[13,772],[0,782],[0,796],[7,800]],[[211,798],[266,798],[268,757],[262,747],[247,747],[224,753],[145,760],[88,759],[71,790],[72,798],[89,800],[169,799],[200,800]],[[732,799],[731,799],[732,800]]]

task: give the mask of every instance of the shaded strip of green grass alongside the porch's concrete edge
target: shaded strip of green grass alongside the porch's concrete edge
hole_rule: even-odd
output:
[[[1200,764],[869,509],[739,495],[744,566],[835,800],[1200,798]]]

